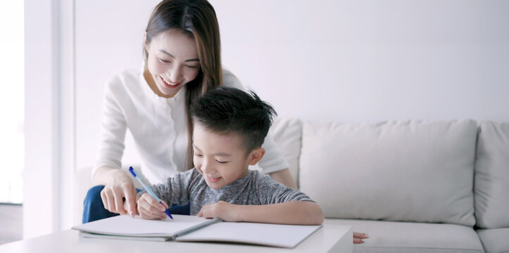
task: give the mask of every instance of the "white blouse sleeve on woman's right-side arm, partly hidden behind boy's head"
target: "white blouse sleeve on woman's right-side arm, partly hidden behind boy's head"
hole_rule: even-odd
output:
[[[242,91],[249,91],[249,87],[241,84],[240,80],[235,77],[232,72],[224,70],[222,79],[223,84],[227,87],[241,89]],[[262,160],[258,162],[258,165],[261,167],[261,172],[263,174],[269,174],[275,171],[288,169],[290,167],[287,160],[284,159],[282,153],[279,151],[279,149],[277,149],[270,133],[265,137],[262,148],[265,149],[265,155],[263,156]]]

